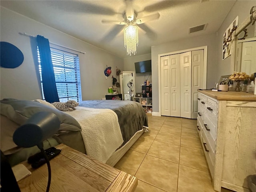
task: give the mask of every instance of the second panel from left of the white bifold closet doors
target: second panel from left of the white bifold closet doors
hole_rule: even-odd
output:
[[[180,54],[170,55],[170,116],[180,117]]]

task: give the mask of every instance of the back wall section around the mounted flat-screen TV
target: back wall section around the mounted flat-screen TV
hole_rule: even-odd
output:
[[[144,54],[144,55],[138,55],[138,56],[133,56],[129,58],[124,58],[124,70],[125,71],[134,71],[135,72],[135,62],[140,62],[140,61],[146,61],[146,60],[151,60],[151,54]],[[152,83],[152,76],[151,72],[147,73],[137,73],[135,74],[135,90],[137,93],[142,92],[141,84],[144,84],[145,80],[149,80],[150,83]]]

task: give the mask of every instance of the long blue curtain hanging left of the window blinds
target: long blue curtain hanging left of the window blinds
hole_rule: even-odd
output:
[[[37,35],[36,40],[42,68],[44,98],[50,103],[60,102],[55,83],[49,40],[40,35]]]

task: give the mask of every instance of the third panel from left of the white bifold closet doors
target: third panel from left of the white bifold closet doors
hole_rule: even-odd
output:
[[[191,51],[180,54],[180,117],[191,118]]]

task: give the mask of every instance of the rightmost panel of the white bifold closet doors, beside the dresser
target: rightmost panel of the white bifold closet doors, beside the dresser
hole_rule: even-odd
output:
[[[203,88],[204,50],[191,52],[191,118],[197,118],[198,89]]]

